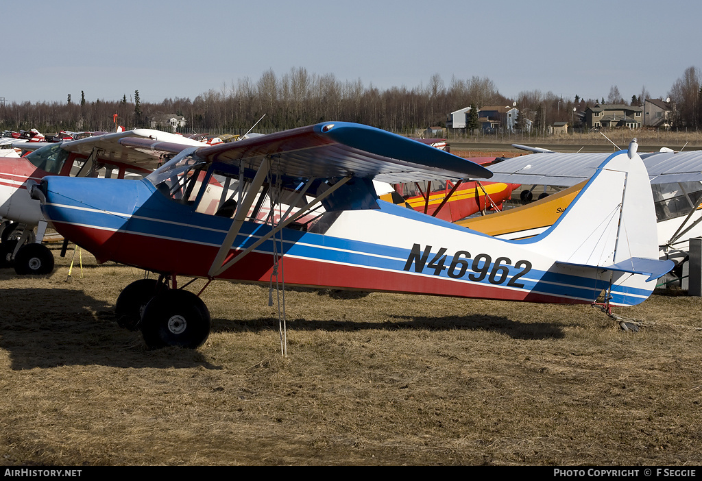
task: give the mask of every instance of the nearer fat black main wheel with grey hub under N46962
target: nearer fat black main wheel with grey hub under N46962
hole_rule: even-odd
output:
[[[146,305],[140,328],[149,348],[194,349],[204,344],[210,333],[210,313],[192,292],[168,290]]]

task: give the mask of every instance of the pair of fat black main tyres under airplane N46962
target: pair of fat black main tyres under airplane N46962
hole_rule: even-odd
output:
[[[205,303],[190,291],[173,288],[159,280],[140,279],[122,290],[115,311],[117,323],[141,330],[149,348],[180,346],[198,348],[210,332],[210,313]]]

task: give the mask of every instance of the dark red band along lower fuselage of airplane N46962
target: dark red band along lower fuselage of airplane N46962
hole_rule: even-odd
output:
[[[211,245],[141,236],[134,233],[105,231],[60,222],[55,222],[55,227],[65,238],[92,252],[99,262],[111,260],[147,271],[172,273],[185,277],[206,278],[207,271],[218,252],[218,247]],[[236,255],[239,251],[231,252]],[[283,257],[282,262],[283,266],[279,269],[279,273],[284,276],[287,285],[526,302],[562,304],[590,304],[591,302],[536,294],[527,290],[464,283],[435,276],[384,271],[290,256]],[[270,282],[272,272],[272,255],[251,252],[218,278],[267,284]]]

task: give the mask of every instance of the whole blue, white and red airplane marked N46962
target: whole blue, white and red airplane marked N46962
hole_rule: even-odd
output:
[[[526,302],[592,303],[604,293],[608,306],[627,306],[647,299],[673,266],[658,259],[651,189],[635,148],[607,158],[548,231],[523,241],[379,201],[372,183],[490,175],[406,137],[325,122],[186,149],[140,180],[44,177],[32,195],[55,229],[99,262],[159,274],[126,286],[116,304],[121,323],[138,327],[150,347],[197,348],[208,336],[208,310],[178,283],[184,276],[206,279],[202,290],[217,279],[274,279]],[[215,196],[210,177],[223,186]],[[295,214],[281,209],[275,222],[251,215],[256,199],[254,210],[264,202],[279,209],[284,191],[314,198]],[[213,203],[215,213],[204,212]],[[297,222],[317,203],[323,215]]]

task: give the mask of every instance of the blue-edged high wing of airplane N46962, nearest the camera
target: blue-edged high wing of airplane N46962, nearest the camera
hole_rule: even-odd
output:
[[[380,182],[489,178],[492,172],[464,158],[385,130],[324,122],[197,150],[219,170],[258,170],[264,158],[284,177],[361,177]]]

